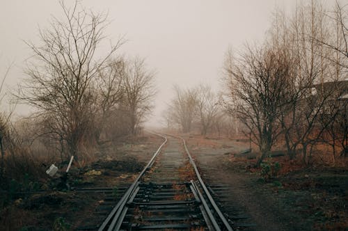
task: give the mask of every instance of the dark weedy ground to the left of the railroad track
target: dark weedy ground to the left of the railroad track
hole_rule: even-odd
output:
[[[162,138],[146,135],[104,143],[95,161],[72,165],[66,182],[47,175],[37,193],[4,193],[0,196],[0,230],[77,230],[86,223],[100,224],[95,213],[105,204],[106,195],[78,189],[109,187],[120,194],[118,189],[133,182],[162,142]],[[58,172],[61,176],[63,170]],[[116,195],[115,200],[119,197]]]

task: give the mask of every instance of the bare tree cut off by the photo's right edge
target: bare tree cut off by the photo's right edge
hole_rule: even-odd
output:
[[[321,124],[328,124],[323,134],[323,141],[329,143],[333,150],[333,161],[335,161],[336,145],[340,143],[342,155],[347,155],[347,68],[348,68],[348,11],[347,4],[342,5],[339,1],[331,13],[326,13],[329,19],[331,31],[329,36],[315,38],[311,37],[317,45],[331,50],[330,56],[324,58],[330,62],[329,83],[322,88],[330,89],[331,96],[325,105],[326,111],[320,120]]]

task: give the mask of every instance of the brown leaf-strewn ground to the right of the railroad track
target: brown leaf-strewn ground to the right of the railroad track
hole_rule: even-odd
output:
[[[253,168],[255,160],[234,157],[248,148],[248,142],[190,136],[187,143],[207,182],[229,186],[225,206],[250,217],[246,223],[252,226],[235,228],[348,230],[345,166],[303,166],[287,157],[273,157],[266,161],[280,163],[280,171],[267,178],[262,177],[262,168]]]

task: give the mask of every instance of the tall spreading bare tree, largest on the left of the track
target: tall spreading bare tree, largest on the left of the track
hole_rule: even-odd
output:
[[[78,1],[73,8],[60,3],[65,19],[54,17],[49,29],[40,29],[42,45],[26,42],[35,60],[26,69],[29,78],[20,88],[19,98],[56,120],[54,129],[63,137],[70,155],[77,157],[93,120],[93,81],[120,41],[97,57],[105,40],[106,15],[89,12]]]

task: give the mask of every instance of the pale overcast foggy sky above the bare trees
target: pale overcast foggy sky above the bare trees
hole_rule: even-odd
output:
[[[156,70],[159,93],[151,123],[159,120],[172,86],[208,83],[219,88],[221,66],[228,47],[239,49],[248,41],[262,41],[275,6],[290,11],[295,0],[84,0],[95,12],[109,12],[106,31],[111,40],[125,36],[118,51],[141,56]],[[66,1],[72,4],[73,1]],[[58,1],[3,0],[0,8],[0,77],[14,62],[6,89],[25,78],[23,67],[31,55],[23,40],[38,40],[38,28],[47,28],[52,15],[62,16]],[[5,90],[6,90],[5,89]],[[1,104],[6,106],[6,104]],[[28,107],[17,106],[25,115]]]

